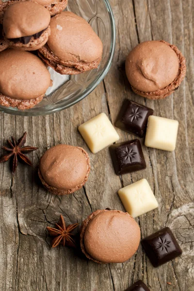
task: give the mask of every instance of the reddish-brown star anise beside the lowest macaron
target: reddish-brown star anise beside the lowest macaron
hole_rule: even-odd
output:
[[[76,243],[74,239],[72,238],[74,234],[72,234],[71,232],[78,225],[79,224],[76,223],[76,224],[69,225],[66,227],[64,218],[62,215],[60,215],[59,222],[58,224],[56,223],[56,228],[47,226],[47,230],[49,231],[49,234],[55,237],[52,240],[52,247],[58,246],[60,242],[63,244],[63,246],[65,246],[65,243],[66,243],[66,245],[68,246],[76,247]]]

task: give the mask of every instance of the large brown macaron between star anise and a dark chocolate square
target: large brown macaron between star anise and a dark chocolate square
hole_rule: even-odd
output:
[[[81,226],[81,250],[97,263],[122,263],[140,243],[140,228],[128,212],[97,210]]]

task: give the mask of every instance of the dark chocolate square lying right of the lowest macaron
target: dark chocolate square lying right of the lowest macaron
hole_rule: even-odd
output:
[[[142,245],[154,267],[158,267],[182,254],[169,227],[162,228],[142,240]]]

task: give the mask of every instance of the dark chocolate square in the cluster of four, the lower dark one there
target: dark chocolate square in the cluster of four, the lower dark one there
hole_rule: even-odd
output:
[[[110,153],[116,175],[146,168],[142,146],[138,139],[110,146]]]

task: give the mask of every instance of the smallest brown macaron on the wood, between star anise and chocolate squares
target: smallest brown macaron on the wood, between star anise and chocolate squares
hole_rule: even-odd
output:
[[[57,145],[49,148],[40,160],[38,175],[54,194],[65,195],[79,190],[90,173],[90,158],[79,146]]]

